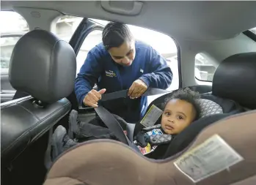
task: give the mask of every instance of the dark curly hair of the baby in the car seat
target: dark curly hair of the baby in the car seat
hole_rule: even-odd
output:
[[[181,99],[186,102],[191,103],[191,105],[194,106],[194,109],[196,110],[196,116],[194,120],[197,120],[200,118],[201,108],[200,108],[200,94],[196,91],[192,91],[190,88],[182,88],[178,91],[175,91],[170,97],[167,97],[164,101],[164,107],[167,105],[167,103],[171,99]]]

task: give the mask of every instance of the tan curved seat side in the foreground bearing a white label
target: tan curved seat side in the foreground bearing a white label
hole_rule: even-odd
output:
[[[217,121],[179,155],[158,161],[114,140],[81,143],[59,156],[44,184],[255,184],[255,118],[253,110]]]

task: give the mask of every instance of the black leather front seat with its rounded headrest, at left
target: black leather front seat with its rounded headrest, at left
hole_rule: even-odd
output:
[[[1,163],[8,165],[71,109],[76,55],[54,34],[34,30],[15,45],[10,83],[31,96],[1,104]]]

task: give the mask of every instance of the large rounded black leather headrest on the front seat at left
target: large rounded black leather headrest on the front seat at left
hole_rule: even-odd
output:
[[[44,103],[67,97],[74,88],[76,55],[73,48],[48,31],[23,35],[12,51],[10,83]]]

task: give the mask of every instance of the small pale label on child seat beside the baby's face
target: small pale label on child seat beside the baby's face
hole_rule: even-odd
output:
[[[146,115],[140,121],[140,124],[144,125],[145,127],[152,127],[156,124],[156,121],[163,113],[163,110],[156,107],[156,105],[152,105],[149,110],[147,110]]]

